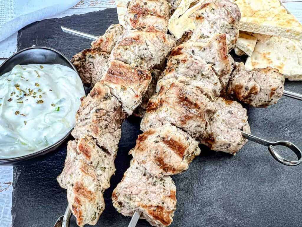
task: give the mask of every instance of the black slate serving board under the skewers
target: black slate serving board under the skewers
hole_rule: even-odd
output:
[[[44,45],[71,58],[88,48],[90,41],[65,34],[59,26],[101,35],[113,23],[118,23],[116,9],[35,22],[18,32],[18,50]],[[300,82],[287,81],[285,87],[302,93]],[[265,109],[247,106],[252,133],[267,140],[289,140],[302,147],[301,107],[301,102],[287,97]],[[136,117],[123,123],[115,161],[117,171],[111,178],[111,188],[104,193],[106,209],[97,226],[124,227],[130,221],[116,212],[111,193],[129,166],[128,151],[141,133],[139,125]],[[283,166],[266,147],[253,142],[236,156],[201,149],[202,154],[188,171],[172,177],[177,186],[177,210],[171,226],[302,226],[302,166]],[[63,215],[66,191],[59,187],[56,176],[63,169],[65,156],[66,143],[56,152],[14,166],[13,227],[52,227]],[[76,226],[74,221],[72,227]],[[137,226],[149,225],[140,220]]]

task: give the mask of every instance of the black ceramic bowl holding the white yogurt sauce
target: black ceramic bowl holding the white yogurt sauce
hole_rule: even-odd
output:
[[[26,64],[61,64],[64,66],[67,66],[69,68],[72,68],[74,71],[77,72],[74,65],[69,61],[69,59],[62,54],[61,52],[49,48],[49,47],[30,47],[23,49],[15,54],[13,54],[10,58],[8,58],[5,62],[2,63],[0,66],[0,76],[5,74],[6,72],[9,72],[13,69],[15,65],[26,65]],[[84,84],[83,84],[84,87]],[[85,89],[85,87],[84,87]],[[15,158],[0,158],[0,165],[12,165],[14,163],[29,160],[31,158],[49,153],[53,150],[56,150],[56,148],[63,143],[66,138],[70,135],[72,129],[66,133],[66,135],[61,138],[58,142],[55,144],[48,146],[42,150],[39,150],[34,153],[30,153],[24,156],[15,157]]]

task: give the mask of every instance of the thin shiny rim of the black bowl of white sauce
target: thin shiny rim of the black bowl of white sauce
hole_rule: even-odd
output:
[[[46,46],[34,46],[34,47],[28,47],[28,48],[24,48],[14,54],[12,54],[9,58],[7,58],[4,62],[2,62],[2,64],[0,65],[0,68],[2,67],[3,64],[5,64],[5,62],[7,62],[8,60],[10,60],[11,58],[13,58],[15,55],[17,54],[20,54],[21,52],[23,51],[27,51],[27,50],[31,50],[31,49],[46,49],[46,50],[50,50],[50,51],[54,51],[56,52],[57,54],[61,55],[68,63],[69,65],[72,67],[72,69],[76,72],[76,74],[79,76],[79,78],[81,79],[82,81],[82,85],[83,85],[83,88],[84,88],[84,91],[85,91],[85,85],[83,83],[83,80],[82,78],[80,77],[76,67],[72,64],[72,62],[69,60],[69,58],[67,58],[63,53],[61,53],[60,51],[54,49],[54,48],[51,48],[51,47],[46,47]],[[34,63],[32,63],[34,64]],[[2,75],[1,75],[2,76]],[[0,76],[0,77],[1,77]],[[86,93],[86,92],[85,92]],[[86,95],[86,94],[85,94]],[[72,127],[72,129],[70,129],[66,135],[64,137],[62,137],[61,139],[59,139],[56,143],[50,145],[50,146],[47,146],[41,150],[38,150],[34,153],[30,153],[30,154],[26,154],[26,155],[23,155],[23,156],[18,156],[18,157],[12,157],[12,158],[0,158],[0,165],[6,165],[6,164],[11,164],[11,163],[16,163],[16,162],[20,162],[20,161],[24,161],[24,160],[28,160],[28,159],[31,159],[31,158],[34,158],[34,157],[37,157],[37,156],[40,156],[42,154],[46,154],[46,153],[49,153],[50,151],[52,151],[54,148],[56,148],[56,146],[59,146],[61,143],[63,143],[63,141],[65,141],[67,139],[67,137],[69,137],[71,131],[73,130],[74,127]]]

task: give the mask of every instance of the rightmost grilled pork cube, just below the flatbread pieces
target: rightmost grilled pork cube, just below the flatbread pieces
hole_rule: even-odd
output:
[[[284,91],[284,76],[271,67],[246,70],[243,63],[236,63],[228,94],[254,107],[275,104]]]

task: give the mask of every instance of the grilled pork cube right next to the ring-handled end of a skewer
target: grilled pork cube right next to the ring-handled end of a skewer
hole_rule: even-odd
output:
[[[241,131],[250,133],[246,109],[236,101],[218,98],[216,112],[210,118],[206,132],[199,137],[202,144],[211,150],[236,154],[247,140]]]

